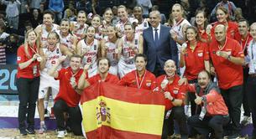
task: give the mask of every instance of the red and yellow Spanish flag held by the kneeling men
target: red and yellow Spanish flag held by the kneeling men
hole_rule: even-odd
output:
[[[162,94],[100,82],[84,90],[81,109],[88,139],[161,138]]]

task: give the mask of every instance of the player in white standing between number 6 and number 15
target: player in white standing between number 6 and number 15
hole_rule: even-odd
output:
[[[114,26],[107,27],[107,39],[102,39],[102,57],[110,60],[108,72],[118,75],[118,31]]]

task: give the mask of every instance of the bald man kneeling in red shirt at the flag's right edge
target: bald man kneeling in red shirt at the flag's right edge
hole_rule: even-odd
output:
[[[162,139],[173,135],[174,120],[178,122],[180,127],[181,139],[186,139],[188,135],[185,112],[185,86],[179,85],[179,75],[176,75],[175,61],[169,59],[164,65],[165,75],[157,78],[158,89],[165,95],[165,120],[163,125]]]

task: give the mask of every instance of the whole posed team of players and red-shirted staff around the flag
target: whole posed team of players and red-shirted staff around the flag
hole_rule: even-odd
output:
[[[107,8],[102,17],[94,15],[91,18],[90,26],[86,24],[84,11],[77,13],[76,22],[63,18],[60,25],[54,23],[54,13],[44,11],[43,23],[29,30],[24,44],[18,48],[18,122],[22,135],[35,133],[36,101],[39,133],[46,131],[44,109],[47,104],[44,98],[49,94],[55,99],[53,111],[58,137],[64,137],[66,130],[81,135],[80,95],[86,87],[101,80],[163,92],[165,121],[162,138],[174,133],[173,119],[178,122],[181,138],[189,136],[187,124],[204,137],[222,138],[223,126],[230,121],[232,132],[229,136],[238,136],[243,70],[249,69],[245,73],[248,77],[255,79],[256,76],[256,61],[253,59],[253,54],[256,54],[256,23],[251,25],[249,33],[247,20],[234,23],[229,20],[227,9],[218,7],[216,23],[208,24],[205,11],[197,10],[192,26],[183,16],[182,6],[175,4],[171,10],[173,22],[165,23],[165,26],[170,26],[170,39],[175,41],[176,46],[172,47],[178,49],[179,62],[166,60],[165,65],[161,65],[165,73],[156,75],[146,69],[151,55],[144,52],[147,42],[143,33],[147,28],[159,26],[160,13],[152,11],[149,18],[143,18],[142,10],[134,7],[131,18],[125,6],[120,5],[119,21],[112,24],[112,9]],[[153,36],[155,39],[156,34]],[[159,39],[161,37],[159,35]],[[248,55],[247,60],[244,60],[244,55]],[[214,76],[218,86],[211,81]],[[248,85],[255,93],[252,86],[253,83]],[[186,122],[189,103],[191,117]],[[251,109],[255,121],[255,108]],[[201,118],[201,115],[206,116]],[[255,124],[253,122],[254,128]],[[255,133],[254,129],[253,136]]]

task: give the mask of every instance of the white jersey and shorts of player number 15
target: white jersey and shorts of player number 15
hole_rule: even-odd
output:
[[[129,47],[130,44],[133,44],[136,49],[139,49],[139,33],[135,33],[134,39],[132,42],[126,39],[126,36],[123,36],[123,47],[122,47],[122,54],[121,58],[118,62],[118,74],[120,78],[124,75],[128,74],[132,70],[136,69],[134,64],[134,57],[135,53],[133,49]]]

